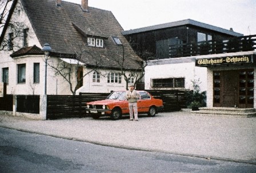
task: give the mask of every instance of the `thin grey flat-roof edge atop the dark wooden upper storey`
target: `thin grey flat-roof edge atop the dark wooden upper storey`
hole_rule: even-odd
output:
[[[229,35],[233,35],[233,36],[237,36],[237,37],[243,36],[243,34],[235,33],[234,31],[226,30],[221,27],[209,25],[209,24],[194,21],[191,19],[186,19],[186,20],[177,21],[177,22],[163,23],[163,24],[154,25],[154,26],[147,26],[147,27],[142,27],[142,28],[134,29],[134,30],[122,31],[122,34],[129,35],[129,34],[142,33],[142,32],[146,32],[146,31],[159,30],[159,29],[165,29],[168,27],[176,27],[176,26],[182,26],[182,25],[194,25],[194,26],[203,27],[205,29],[218,31],[219,33],[229,34]]]

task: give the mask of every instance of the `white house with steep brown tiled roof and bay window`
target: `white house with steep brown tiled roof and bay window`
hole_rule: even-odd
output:
[[[18,32],[11,22],[21,24]],[[143,61],[121,31],[111,11],[87,0],[15,0],[0,39],[0,82],[15,95],[124,90]]]

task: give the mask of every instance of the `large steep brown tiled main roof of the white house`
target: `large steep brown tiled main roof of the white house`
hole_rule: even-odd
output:
[[[106,68],[118,67],[124,47],[125,67],[139,67],[133,61],[141,58],[122,35],[123,29],[111,11],[89,7],[87,13],[76,3],[62,1],[60,7],[56,6],[55,0],[22,0],[22,5],[41,46],[49,43],[53,54],[70,55],[82,50],[81,61],[86,65],[94,66],[97,62]],[[87,46],[86,35],[104,39],[104,48]],[[118,37],[123,46],[115,45],[112,36]]]

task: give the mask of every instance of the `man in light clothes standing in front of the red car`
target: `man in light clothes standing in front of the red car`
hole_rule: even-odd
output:
[[[134,90],[134,85],[130,85],[130,90],[126,92],[126,99],[129,102],[130,120],[133,120],[133,111],[134,111],[135,121],[138,120],[138,106],[137,106],[138,98],[139,98],[139,94],[136,90]]]

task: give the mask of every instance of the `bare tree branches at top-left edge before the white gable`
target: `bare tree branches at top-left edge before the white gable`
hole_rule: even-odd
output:
[[[18,14],[23,9],[17,5],[17,0],[1,0],[0,1],[0,50],[8,50],[10,46],[19,49],[18,44],[13,44],[13,40],[23,37],[23,30],[26,28],[25,23],[11,19],[10,14]],[[9,29],[13,35],[11,38],[5,37],[5,33]]]

